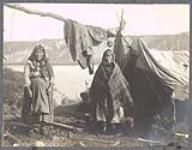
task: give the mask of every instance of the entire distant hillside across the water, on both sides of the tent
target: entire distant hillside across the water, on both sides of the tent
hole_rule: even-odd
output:
[[[149,48],[159,50],[189,50],[189,33],[175,35],[150,35],[138,36],[143,39]],[[64,39],[44,39],[36,42],[5,42],[4,57],[7,64],[23,64],[34,46],[43,44],[53,64],[76,64],[71,59],[71,55]],[[102,47],[102,46],[101,46]],[[100,48],[98,48],[100,49]],[[95,60],[99,60],[101,50],[95,52]]]

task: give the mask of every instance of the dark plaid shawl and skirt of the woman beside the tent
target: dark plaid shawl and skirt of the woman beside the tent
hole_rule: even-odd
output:
[[[112,120],[114,116],[118,116],[116,113],[120,111],[120,107],[124,109],[125,115],[127,116],[131,115],[130,112],[133,107],[129,84],[119,66],[115,62],[113,62],[113,65],[114,67],[109,79],[106,78],[103,64],[98,67],[90,89],[95,117],[98,118],[98,116],[102,116],[101,114],[103,112],[101,111],[108,110],[110,111],[109,121]],[[108,99],[107,105],[110,105],[108,106],[110,108],[107,109],[105,108],[106,99]]]

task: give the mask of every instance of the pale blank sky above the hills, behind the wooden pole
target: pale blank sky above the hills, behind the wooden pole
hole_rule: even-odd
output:
[[[135,4],[20,4],[52,12],[85,25],[117,28],[124,10],[125,35],[176,34],[189,31],[189,5]],[[63,38],[64,23],[29,15],[4,6],[4,41],[38,41]]]

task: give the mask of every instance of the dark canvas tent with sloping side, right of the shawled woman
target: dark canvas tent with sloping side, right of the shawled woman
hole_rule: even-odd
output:
[[[115,38],[114,52],[131,87],[136,119],[151,118],[172,106],[173,91],[176,86],[185,85],[186,78],[159,63],[144,41],[124,37],[120,31]]]

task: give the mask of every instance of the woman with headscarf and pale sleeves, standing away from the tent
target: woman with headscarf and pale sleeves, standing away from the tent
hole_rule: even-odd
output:
[[[28,58],[24,80],[24,119],[27,119],[26,116],[36,116],[38,121],[53,120],[54,72],[42,45],[35,46]]]

